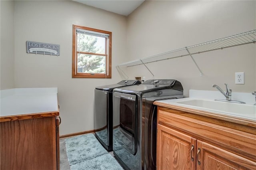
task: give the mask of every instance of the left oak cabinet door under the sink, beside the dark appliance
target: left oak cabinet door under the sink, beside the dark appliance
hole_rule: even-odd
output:
[[[195,170],[196,139],[160,124],[157,126],[157,169]]]

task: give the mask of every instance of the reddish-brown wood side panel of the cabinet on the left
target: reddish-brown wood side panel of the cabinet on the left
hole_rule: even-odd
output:
[[[0,124],[1,170],[54,170],[56,117],[7,121]]]

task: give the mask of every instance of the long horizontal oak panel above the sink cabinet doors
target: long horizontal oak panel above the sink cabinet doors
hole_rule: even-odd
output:
[[[213,123],[204,122],[158,110],[158,123],[168,127],[176,128],[192,135],[195,138],[202,138],[214,142],[223,147],[239,151],[248,158],[255,159],[256,135],[228,127],[222,127]],[[256,130],[256,128],[254,128]]]

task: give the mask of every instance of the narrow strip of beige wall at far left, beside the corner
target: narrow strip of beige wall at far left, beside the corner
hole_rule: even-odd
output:
[[[14,2],[0,1],[0,90],[14,88]]]

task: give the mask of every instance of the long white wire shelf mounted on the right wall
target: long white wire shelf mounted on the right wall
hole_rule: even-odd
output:
[[[183,47],[183,48],[175,49],[172,51],[167,51],[164,53],[152,55],[149,57],[136,59],[126,63],[122,63],[118,66],[132,67],[135,65],[142,65],[142,64],[162,61],[166,59],[183,57],[186,55],[190,55],[192,57],[193,54],[197,54],[197,53],[203,53],[207,51],[213,51],[216,49],[234,47],[237,45],[244,45],[244,44],[254,43],[254,42],[256,42],[256,30],[250,30],[247,32],[239,33],[239,34],[234,34],[232,36],[227,36],[227,37],[219,38],[216,40],[198,43],[195,45],[190,45],[188,47]]]

